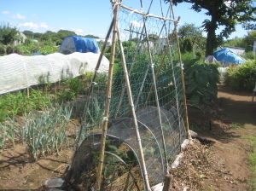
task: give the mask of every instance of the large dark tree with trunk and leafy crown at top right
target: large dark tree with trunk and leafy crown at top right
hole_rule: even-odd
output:
[[[170,2],[171,0],[164,0]],[[253,30],[256,24],[256,7],[254,1],[248,0],[172,0],[176,6],[177,3],[192,3],[191,9],[201,12],[207,10],[206,15],[210,20],[204,20],[202,27],[207,32],[207,46],[205,55],[213,55],[213,50],[223,42],[224,38],[229,38],[232,32],[236,31],[236,25],[241,24],[246,30]],[[224,26],[224,29],[217,35],[218,26]]]

